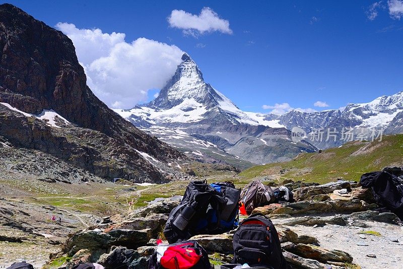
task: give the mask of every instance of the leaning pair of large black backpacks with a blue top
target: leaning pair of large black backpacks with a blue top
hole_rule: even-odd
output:
[[[199,234],[221,234],[238,225],[241,191],[231,182],[191,181],[169,214],[164,235],[169,243]]]

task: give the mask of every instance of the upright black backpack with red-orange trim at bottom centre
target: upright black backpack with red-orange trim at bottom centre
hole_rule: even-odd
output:
[[[247,263],[251,267],[265,265],[274,269],[291,268],[283,256],[276,228],[262,214],[252,214],[239,224],[233,246],[232,263]]]

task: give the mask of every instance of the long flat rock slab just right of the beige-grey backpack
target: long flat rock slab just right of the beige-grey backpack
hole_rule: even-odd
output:
[[[312,196],[318,194],[332,193],[334,190],[350,189],[351,185],[348,181],[329,182],[318,186],[301,187],[293,191],[294,199],[301,201],[312,199]]]

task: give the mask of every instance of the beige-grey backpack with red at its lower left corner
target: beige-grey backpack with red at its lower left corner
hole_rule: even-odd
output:
[[[246,185],[241,193],[241,202],[245,205],[248,214],[259,206],[274,203],[276,195],[273,189],[264,185],[260,180],[254,180]]]

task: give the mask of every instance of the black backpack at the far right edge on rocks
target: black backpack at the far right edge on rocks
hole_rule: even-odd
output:
[[[363,174],[360,183],[371,188],[381,212],[395,213],[403,221],[403,179],[378,171]]]

